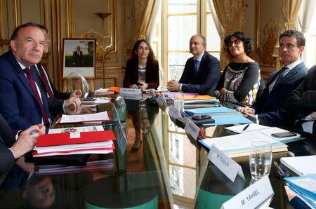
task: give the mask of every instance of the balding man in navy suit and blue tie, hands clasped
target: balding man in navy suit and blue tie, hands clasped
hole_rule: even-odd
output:
[[[191,37],[190,53],[193,57],[185,63],[180,81],[169,81],[168,89],[213,96],[220,79],[220,65],[217,58],[206,52],[206,39],[202,34]]]

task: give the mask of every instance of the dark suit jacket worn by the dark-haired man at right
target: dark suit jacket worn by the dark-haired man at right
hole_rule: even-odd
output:
[[[273,72],[260,99],[252,106],[256,110],[256,114],[258,114],[258,119],[270,126],[282,126],[284,123],[293,123],[289,114],[284,111],[285,101],[291,91],[305,79],[307,74],[308,68],[301,62],[291,69],[269,93],[269,86],[279,76],[279,71]]]

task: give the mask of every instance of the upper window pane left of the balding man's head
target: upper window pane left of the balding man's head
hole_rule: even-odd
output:
[[[168,50],[189,50],[190,38],[196,33],[196,16],[169,17]]]

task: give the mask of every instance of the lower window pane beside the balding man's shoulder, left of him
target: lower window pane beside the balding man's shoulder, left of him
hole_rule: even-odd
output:
[[[169,53],[168,81],[171,79],[176,81],[180,80],[185,67],[185,62],[191,57],[192,54],[190,53]]]

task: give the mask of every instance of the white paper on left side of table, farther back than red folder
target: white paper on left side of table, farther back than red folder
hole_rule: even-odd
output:
[[[94,114],[80,114],[80,115],[65,115],[63,114],[60,123],[81,123],[81,122],[96,122],[96,121],[110,121],[107,112],[98,112]]]

